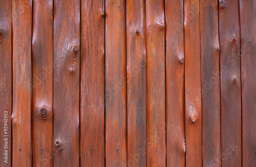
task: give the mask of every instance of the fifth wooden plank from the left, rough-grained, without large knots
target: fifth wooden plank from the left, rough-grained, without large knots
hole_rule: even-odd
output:
[[[104,1],[81,1],[81,166],[104,166]]]

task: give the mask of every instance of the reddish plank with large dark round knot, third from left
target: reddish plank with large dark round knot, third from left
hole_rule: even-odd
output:
[[[33,166],[53,166],[53,1],[33,1]]]

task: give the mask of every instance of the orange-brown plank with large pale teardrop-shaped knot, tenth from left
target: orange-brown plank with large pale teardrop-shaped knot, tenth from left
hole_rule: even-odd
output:
[[[184,1],[186,166],[202,166],[199,0]]]

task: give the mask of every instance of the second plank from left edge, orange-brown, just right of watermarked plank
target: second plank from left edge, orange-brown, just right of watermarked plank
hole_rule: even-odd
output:
[[[32,166],[32,1],[12,1],[12,165]]]

